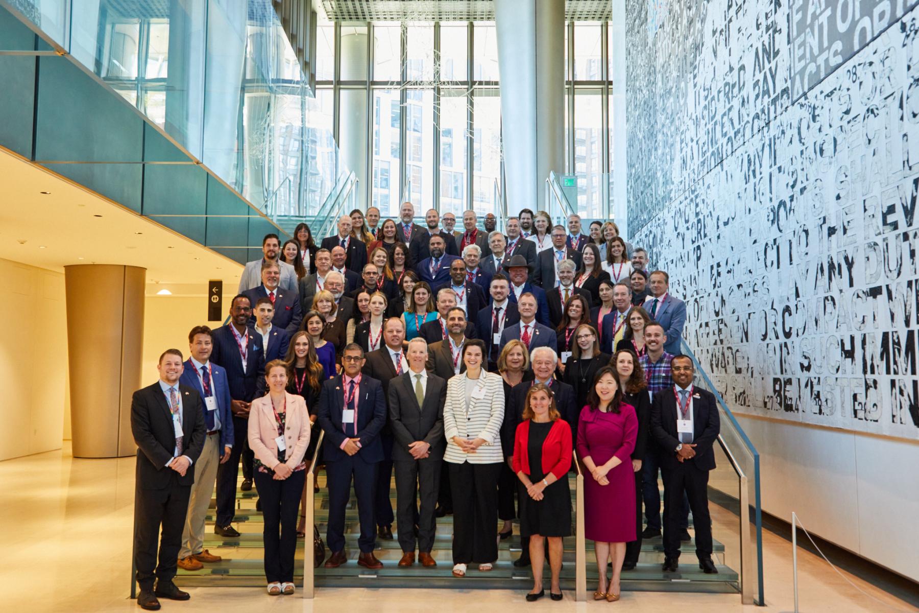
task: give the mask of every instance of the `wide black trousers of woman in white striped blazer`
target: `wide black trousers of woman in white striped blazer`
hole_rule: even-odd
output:
[[[451,464],[453,563],[498,559],[498,477],[504,462]]]

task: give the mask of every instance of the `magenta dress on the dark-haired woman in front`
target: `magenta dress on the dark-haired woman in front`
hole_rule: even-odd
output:
[[[584,536],[605,543],[635,540],[635,473],[631,452],[638,434],[638,417],[631,404],[619,413],[581,410],[577,426],[578,457],[590,456],[597,466],[616,456],[622,463],[607,472],[608,485],[584,474]]]

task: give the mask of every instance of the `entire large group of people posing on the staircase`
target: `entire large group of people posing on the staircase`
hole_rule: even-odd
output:
[[[718,410],[680,355],[686,306],[667,273],[649,272],[647,252],[612,221],[584,233],[577,215],[566,227],[525,209],[502,233],[494,215],[480,229],[472,210],[461,230],[452,213],[414,219],[405,202],[398,220],[352,211],[318,246],[306,223],[284,244],[267,234],[228,323],[193,328],[190,357],[165,351],[160,380],[135,393],[142,607],[187,599],[176,566],[220,561],[203,549],[215,485],[214,531],[239,536],[240,460],[242,489],[255,486],[265,517],[267,591],[292,593],[296,539],[312,530],[305,488],[317,484],[304,476],[320,430],[326,568],[349,560],[353,488],[358,565],[382,567],[376,540],[397,538],[399,566],[437,566],[437,517],[452,514],[453,575],[486,573],[518,519],[514,565],[532,567],[527,599],[545,593],[547,558],[550,596],[561,599],[576,460],[596,599],[618,599],[641,539],[662,529],[663,569],[675,571],[690,509],[700,568],[717,573],[706,492]]]

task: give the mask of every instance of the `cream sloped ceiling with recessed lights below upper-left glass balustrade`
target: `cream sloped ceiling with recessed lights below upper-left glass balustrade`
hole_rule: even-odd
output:
[[[223,279],[232,289],[242,271],[232,260],[2,148],[0,257],[59,272],[71,264],[144,267],[148,295],[170,287],[176,295],[204,295],[209,279]]]

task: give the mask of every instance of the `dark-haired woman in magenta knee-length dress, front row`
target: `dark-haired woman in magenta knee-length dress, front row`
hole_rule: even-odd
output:
[[[631,452],[638,418],[622,402],[616,370],[597,370],[577,427],[577,453],[590,476],[584,477],[584,536],[594,541],[599,585],[595,600],[619,599],[619,573],[626,543],[635,540],[635,480]],[[607,583],[607,561],[613,574]]]

